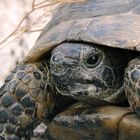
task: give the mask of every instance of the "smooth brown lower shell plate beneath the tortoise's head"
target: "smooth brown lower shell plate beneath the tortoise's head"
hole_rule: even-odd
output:
[[[46,137],[49,140],[124,140],[130,134],[131,140],[132,136],[133,139],[139,140],[140,134],[137,133],[140,130],[137,125],[139,119],[132,118],[132,125],[136,129],[132,133],[130,129],[127,131],[127,127],[131,126],[131,119],[126,121],[125,117],[132,116],[132,113],[125,107],[110,105],[93,107],[79,102],[53,119],[47,126]]]

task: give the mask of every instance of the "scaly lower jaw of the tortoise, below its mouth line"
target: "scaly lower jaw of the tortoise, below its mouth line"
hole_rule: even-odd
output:
[[[55,87],[61,95],[72,96],[78,100],[82,99],[84,101],[86,101],[87,98],[91,99],[92,101],[94,99],[104,100],[111,95],[109,89],[104,89],[84,82],[69,85],[56,84]]]

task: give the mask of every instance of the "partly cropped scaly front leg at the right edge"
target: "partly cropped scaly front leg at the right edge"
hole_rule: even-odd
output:
[[[124,88],[130,107],[140,115],[140,57],[129,62],[124,75]]]

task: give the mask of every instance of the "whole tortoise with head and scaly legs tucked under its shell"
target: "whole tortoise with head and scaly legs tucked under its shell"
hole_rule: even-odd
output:
[[[43,121],[49,139],[125,139],[140,121],[139,18],[140,0],[60,5],[0,89],[0,138],[30,139]]]

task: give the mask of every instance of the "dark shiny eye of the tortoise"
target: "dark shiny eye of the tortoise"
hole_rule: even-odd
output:
[[[87,68],[94,68],[101,62],[100,54],[92,54],[90,55],[84,62]]]

